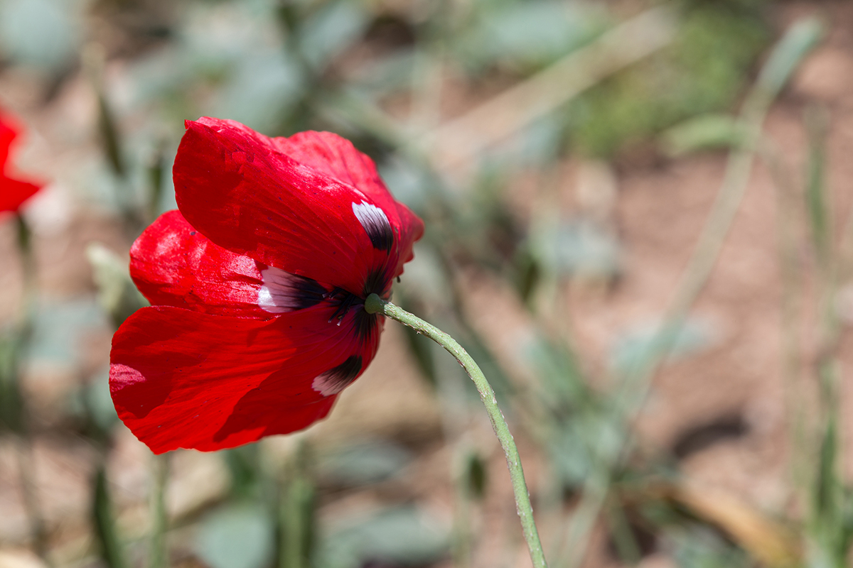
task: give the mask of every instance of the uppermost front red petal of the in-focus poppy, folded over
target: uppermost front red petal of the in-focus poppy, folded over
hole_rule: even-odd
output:
[[[214,243],[271,267],[357,295],[371,274],[387,274],[390,284],[411,256],[410,235],[420,235],[420,220],[401,235],[396,206],[384,209],[278,146],[232,121],[188,122],[173,169],[178,209]],[[353,208],[358,204],[382,209],[397,223],[391,250],[372,246]]]

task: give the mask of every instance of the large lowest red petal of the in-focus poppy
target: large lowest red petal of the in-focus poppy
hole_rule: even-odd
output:
[[[328,414],[337,391],[316,377],[354,358],[346,384],[373,359],[379,326],[364,341],[357,313],[329,324],[334,307],[270,320],[178,307],[143,307],[113,336],[110,391],[119,418],[156,454],[221,450],[289,433]]]

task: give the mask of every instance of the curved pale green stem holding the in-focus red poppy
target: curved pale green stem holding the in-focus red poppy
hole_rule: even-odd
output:
[[[501,441],[503,453],[507,456],[507,467],[509,468],[509,477],[513,481],[513,491],[515,493],[515,505],[521,519],[521,528],[525,534],[527,548],[530,550],[531,560],[533,560],[534,568],[547,568],[545,562],[545,554],[543,553],[542,543],[539,542],[539,532],[536,528],[536,521],[533,519],[533,508],[531,507],[530,493],[527,491],[525,483],[525,473],[521,468],[521,458],[519,450],[515,447],[513,434],[509,432],[507,421],[503,417],[501,409],[497,405],[495,391],[486,381],[483,371],[471,359],[471,356],[456,342],[455,339],[439,330],[431,324],[427,324],[421,318],[406,312],[400,307],[395,306],[390,301],[382,300],[378,295],[368,295],[364,301],[364,309],[368,313],[381,313],[388,318],[396,319],[401,324],[408,325],[418,333],[432,339],[444,347],[451,355],[453,355],[459,364],[466,370],[468,376],[477,386],[480,394],[480,400],[485,404],[485,410],[489,413],[491,427],[494,428],[497,439]]]

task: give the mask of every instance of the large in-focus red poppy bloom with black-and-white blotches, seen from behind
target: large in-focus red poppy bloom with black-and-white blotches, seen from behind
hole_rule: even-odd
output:
[[[220,450],[328,414],[379,346],[387,297],[423,223],[373,162],[328,132],[268,138],[186,123],[178,211],[131,248],[152,307],[113,336],[119,417],[154,453]]]

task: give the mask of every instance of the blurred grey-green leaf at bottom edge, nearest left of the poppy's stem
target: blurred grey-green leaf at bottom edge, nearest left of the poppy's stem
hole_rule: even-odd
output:
[[[352,515],[335,525],[322,542],[325,568],[427,565],[446,554],[450,545],[449,527],[415,507]]]

